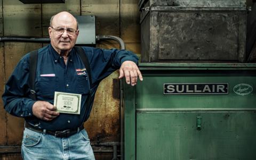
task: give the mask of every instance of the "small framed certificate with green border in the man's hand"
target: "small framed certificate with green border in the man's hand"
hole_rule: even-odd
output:
[[[54,92],[54,106],[57,107],[57,112],[80,114],[81,108],[80,94],[70,94],[66,92]]]

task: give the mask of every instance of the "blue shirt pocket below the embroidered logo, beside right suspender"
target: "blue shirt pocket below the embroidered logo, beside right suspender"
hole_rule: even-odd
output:
[[[77,91],[78,94],[89,94],[90,85],[87,75],[77,75]]]

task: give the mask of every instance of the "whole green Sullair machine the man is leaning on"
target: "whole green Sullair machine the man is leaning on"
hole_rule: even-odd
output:
[[[122,158],[256,159],[256,64],[141,63],[121,81]]]

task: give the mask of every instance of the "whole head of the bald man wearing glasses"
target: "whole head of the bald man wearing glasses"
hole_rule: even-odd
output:
[[[53,48],[60,53],[68,53],[75,46],[79,30],[72,15],[57,14],[49,27],[49,35]]]

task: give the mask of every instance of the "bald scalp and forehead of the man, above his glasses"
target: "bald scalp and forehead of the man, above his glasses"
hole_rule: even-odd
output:
[[[73,23],[76,25],[76,29],[78,29],[77,19],[69,12],[64,11],[53,15],[50,20],[50,26],[52,27],[57,21],[62,23]]]

